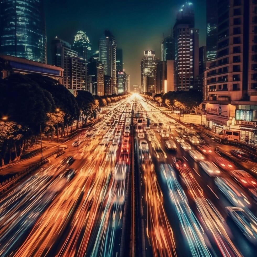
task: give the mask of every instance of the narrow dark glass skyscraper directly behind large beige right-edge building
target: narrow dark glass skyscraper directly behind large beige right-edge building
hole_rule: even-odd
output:
[[[212,61],[217,55],[217,1],[206,2],[206,58]]]

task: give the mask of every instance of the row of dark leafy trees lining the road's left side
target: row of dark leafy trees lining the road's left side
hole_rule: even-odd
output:
[[[1,68],[1,67],[0,67]],[[72,125],[96,118],[100,107],[125,95],[93,96],[79,90],[75,97],[58,81],[40,74],[14,74],[0,79],[1,166],[17,161],[40,135],[53,138],[68,134]]]

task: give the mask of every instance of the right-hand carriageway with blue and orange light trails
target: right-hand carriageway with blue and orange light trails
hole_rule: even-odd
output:
[[[226,207],[237,205],[232,205],[229,197],[218,189],[215,178],[224,178],[231,183],[245,196],[245,202],[240,202],[241,205],[237,207],[256,215],[256,201],[251,197],[249,188],[238,185],[226,170],[227,165],[222,166],[223,163],[216,165],[219,173],[214,175],[207,174],[199,165],[200,161],[221,162],[219,154],[214,151],[216,147],[227,153],[235,148],[222,146],[204,134],[196,134],[196,131],[188,131],[141,97],[138,97],[135,107],[134,112],[142,117],[139,124],[138,119],[134,119],[146,232],[147,250],[143,249],[142,252],[146,256],[255,256],[256,245],[247,240],[227,215]],[[151,120],[149,128],[146,128],[147,117]],[[154,123],[162,126],[153,126]],[[174,129],[169,132],[169,127]],[[169,135],[165,134],[165,130]],[[199,143],[192,143],[190,137],[194,135],[197,135]],[[170,140],[174,142],[175,149],[167,148],[166,142]],[[183,149],[181,141],[188,143],[186,146],[190,149]],[[141,147],[142,143],[147,146]],[[192,157],[190,150],[200,152],[202,159]],[[237,162],[238,165],[242,164],[239,159]],[[245,162],[256,167],[256,163]],[[231,164],[233,169],[239,169],[234,163]],[[229,192],[227,194],[230,196]],[[151,224],[152,212],[161,214]],[[162,233],[164,235],[160,239]],[[165,249],[165,242],[164,247],[158,245],[162,239],[169,240],[173,253],[169,248]]]

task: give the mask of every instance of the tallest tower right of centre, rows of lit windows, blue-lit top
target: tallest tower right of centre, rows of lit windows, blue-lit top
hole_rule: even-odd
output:
[[[194,28],[192,4],[179,10],[173,27],[175,90],[195,88],[199,75],[199,30]]]

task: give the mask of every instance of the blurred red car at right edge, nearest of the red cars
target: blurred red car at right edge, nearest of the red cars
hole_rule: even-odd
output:
[[[256,188],[257,180],[244,170],[229,171],[231,177],[244,188]]]

